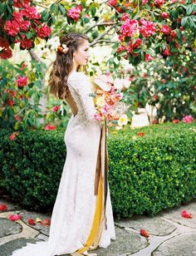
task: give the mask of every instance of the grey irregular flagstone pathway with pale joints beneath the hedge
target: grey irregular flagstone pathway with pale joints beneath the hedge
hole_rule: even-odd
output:
[[[0,211],[0,256],[10,256],[12,251],[27,243],[48,239],[50,227],[39,223],[31,226],[27,219],[51,219],[51,215],[24,210],[7,199],[0,199],[0,204],[7,204],[7,211]],[[180,214],[182,209],[193,214],[193,219],[184,219]],[[12,222],[8,219],[11,214],[22,214],[22,219]],[[149,231],[149,239],[140,235],[140,229]],[[116,240],[107,249],[96,249],[98,256],[194,256],[196,199],[189,204],[164,210],[154,217],[115,219],[115,232]]]

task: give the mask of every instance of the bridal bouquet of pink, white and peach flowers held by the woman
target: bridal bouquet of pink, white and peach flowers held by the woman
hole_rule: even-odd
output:
[[[96,93],[92,93],[94,96],[94,104],[96,106],[96,120],[117,121],[120,119],[128,106],[124,102],[120,101],[123,97],[123,93],[120,89],[125,86],[130,86],[130,81],[125,79],[116,78],[115,80],[110,75],[99,75],[92,80],[94,86],[96,86]],[[129,85],[128,85],[129,83]]]

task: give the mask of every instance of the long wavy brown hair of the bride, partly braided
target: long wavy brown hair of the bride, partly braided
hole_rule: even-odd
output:
[[[89,40],[86,35],[81,33],[70,32],[66,36],[60,37],[60,47],[66,44],[69,50],[64,52],[56,52],[56,60],[53,63],[48,85],[50,92],[57,98],[64,99],[68,94],[68,86],[66,84],[67,77],[73,66],[73,53],[78,49],[84,40]],[[77,67],[77,71],[80,66]]]

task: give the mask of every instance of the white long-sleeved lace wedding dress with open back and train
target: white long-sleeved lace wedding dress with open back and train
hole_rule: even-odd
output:
[[[91,233],[96,212],[96,160],[100,143],[101,125],[91,93],[91,82],[82,72],[68,77],[71,96],[78,113],[71,116],[65,133],[66,162],[61,175],[56,202],[51,215],[49,239],[15,250],[14,256],[54,256],[71,254],[84,248]],[[99,246],[106,248],[115,239],[115,225],[110,202],[106,196],[106,229],[101,232]]]

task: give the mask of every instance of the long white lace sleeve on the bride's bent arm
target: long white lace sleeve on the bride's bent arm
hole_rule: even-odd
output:
[[[86,119],[91,122],[100,123],[100,121],[96,121],[96,107],[93,102],[93,97],[89,96],[91,93],[91,81],[88,76],[86,76],[82,72],[77,72],[75,76],[71,76],[71,86],[79,98],[81,103],[82,110],[85,113]]]

